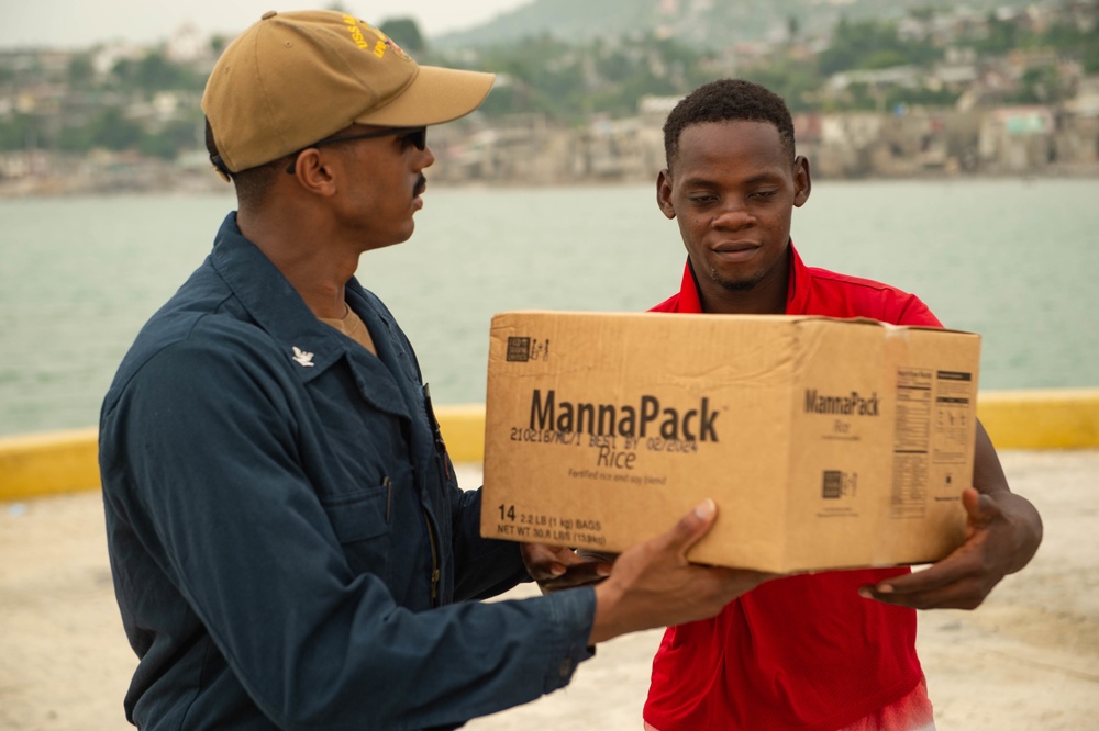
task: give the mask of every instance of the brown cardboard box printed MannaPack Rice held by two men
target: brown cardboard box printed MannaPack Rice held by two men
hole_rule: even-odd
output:
[[[980,338],[800,316],[492,319],[481,535],[602,551],[707,497],[700,563],[926,563],[961,544]]]

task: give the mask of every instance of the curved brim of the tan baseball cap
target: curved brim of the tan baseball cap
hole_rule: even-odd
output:
[[[391,102],[355,117],[355,123],[419,127],[449,122],[480,106],[495,79],[495,74],[482,71],[421,66]]]

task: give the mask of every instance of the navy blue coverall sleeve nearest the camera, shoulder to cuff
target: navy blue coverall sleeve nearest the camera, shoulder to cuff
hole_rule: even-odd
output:
[[[170,585],[186,603],[174,614],[197,618],[287,729],[453,726],[567,685],[591,656],[593,591],[399,606],[378,577],[348,570],[296,458],[292,390],[280,378],[292,376],[185,341],[145,363],[104,413],[108,501],[158,569],[126,589],[135,616],[157,606],[155,582]]]

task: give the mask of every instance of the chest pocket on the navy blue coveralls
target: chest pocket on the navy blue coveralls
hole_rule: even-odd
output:
[[[389,477],[369,490],[332,495],[322,501],[329,522],[356,574],[369,572],[389,583],[390,517],[393,487]]]

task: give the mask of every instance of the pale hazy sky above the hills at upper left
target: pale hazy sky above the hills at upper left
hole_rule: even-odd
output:
[[[428,36],[459,31],[532,0],[341,0],[378,24],[411,16]],[[0,48],[81,48],[101,41],[166,40],[185,23],[203,35],[236,35],[268,10],[326,8],[332,0],[0,0]]]

